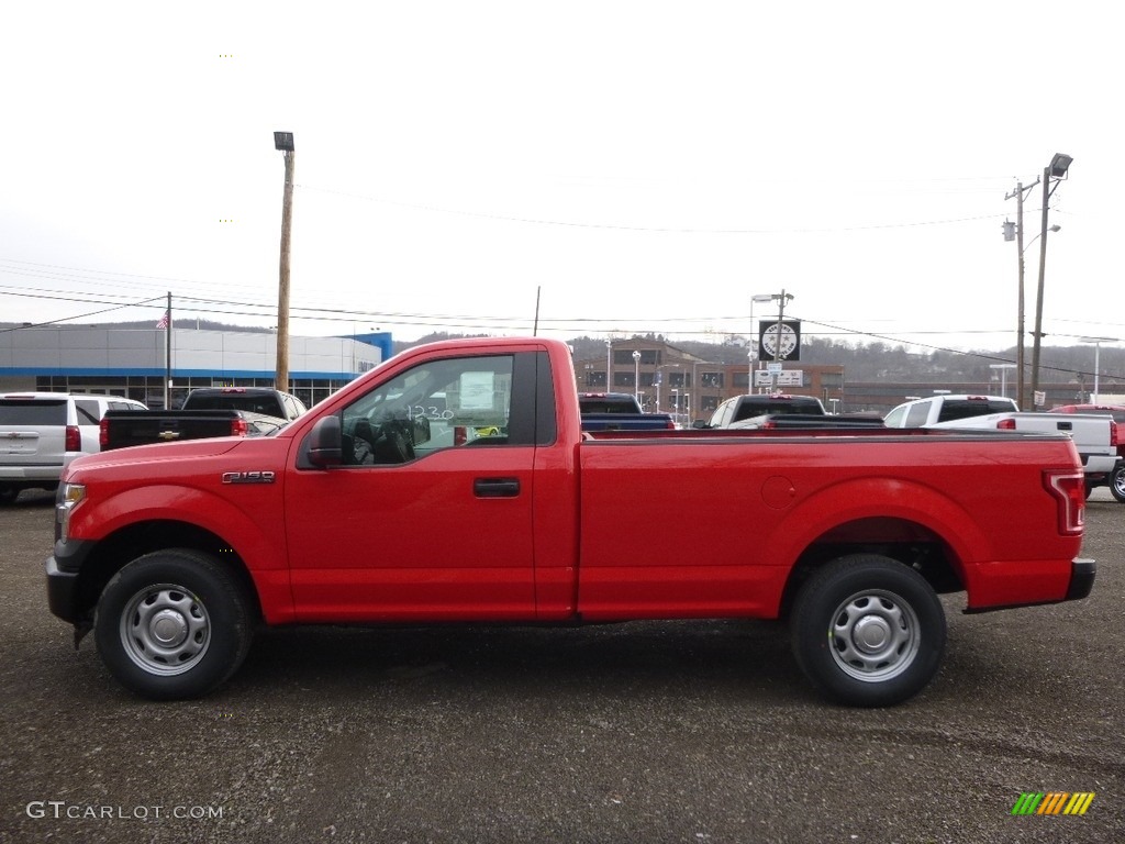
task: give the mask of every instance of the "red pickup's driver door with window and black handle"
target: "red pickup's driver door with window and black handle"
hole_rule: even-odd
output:
[[[534,367],[430,358],[339,411],[343,465],[286,481],[299,619],[533,616]]]

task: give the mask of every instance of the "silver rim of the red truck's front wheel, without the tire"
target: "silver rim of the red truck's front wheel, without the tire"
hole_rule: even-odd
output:
[[[190,671],[210,645],[210,617],[183,586],[161,583],[129,599],[122,613],[122,646],[150,674]]]

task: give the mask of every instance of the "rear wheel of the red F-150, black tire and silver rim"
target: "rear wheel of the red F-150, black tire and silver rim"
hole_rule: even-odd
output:
[[[829,699],[889,707],[926,685],[945,650],[945,612],[912,568],[874,554],[840,557],[801,587],[793,655]]]

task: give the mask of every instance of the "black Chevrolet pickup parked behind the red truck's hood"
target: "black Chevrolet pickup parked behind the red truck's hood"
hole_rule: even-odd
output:
[[[107,413],[101,420],[101,450],[208,437],[261,437],[291,422],[306,410],[296,396],[267,387],[200,387],[178,411]]]

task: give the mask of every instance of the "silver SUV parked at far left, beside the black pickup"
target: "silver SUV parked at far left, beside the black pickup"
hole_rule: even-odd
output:
[[[0,504],[21,490],[54,490],[71,460],[99,451],[108,410],[146,408],[120,396],[0,393]]]

